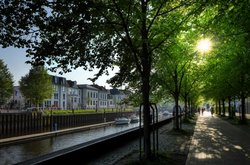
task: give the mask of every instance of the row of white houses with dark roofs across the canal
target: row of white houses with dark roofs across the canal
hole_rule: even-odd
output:
[[[77,84],[76,81],[66,80],[64,77],[51,76],[53,94],[46,99],[41,108],[46,109],[103,109],[125,108],[123,100],[127,97],[124,91],[118,89],[106,89],[96,84]],[[25,107],[25,98],[19,87],[14,88],[13,101],[15,109]],[[31,106],[31,105],[30,105]]]

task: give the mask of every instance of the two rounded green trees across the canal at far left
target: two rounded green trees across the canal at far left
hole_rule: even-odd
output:
[[[9,107],[14,104],[13,76],[7,65],[0,59],[0,107]],[[19,81],[22,95],[31,104],[39,106],[44,99],[51,98],[53,93],[52,79],[47,70],[42,66],[32,67],[28,74],[21,77]]]

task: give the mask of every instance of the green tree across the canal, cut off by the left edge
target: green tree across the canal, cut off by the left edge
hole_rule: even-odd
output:
[[[13,83],[12,74],[0,59],[0,106],[4,105],[13,94]]]

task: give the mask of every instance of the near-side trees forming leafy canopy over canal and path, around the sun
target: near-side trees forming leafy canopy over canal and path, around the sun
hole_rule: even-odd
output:
[[[2,1],[0,44],[27,48],[29,63],[52,71],[97,68],[92,81],[118,66],[109,83],[140,94],[150,158],[151,102],[172,97],[178,107],[183,99],[187,110],[201,89],[215,101],[248,96],[249,6],[248,0]],[[204,37],[215,45],[208,57],[194,48]]]

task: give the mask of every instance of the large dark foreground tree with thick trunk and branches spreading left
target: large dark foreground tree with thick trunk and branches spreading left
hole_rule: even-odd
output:
[[[144,104],[144,153],[151,155],[150,78],[156,50],[180,30],[206,2],[141,1],[4,1],[0,3],[0,44],[27,47],[30,63],[48,64],[52,71],[77,67],[120,68],[116,82],[137,75]],[[176,17],[179,16],[179,17]],[[178,18],[178,19],[176,19]],[[26,37],[23,37],[26,36]]]

